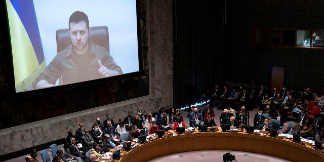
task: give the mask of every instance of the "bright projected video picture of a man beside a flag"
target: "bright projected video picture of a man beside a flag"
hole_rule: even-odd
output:
[[[16,92],[139,71],[135,0],[6,6]]]

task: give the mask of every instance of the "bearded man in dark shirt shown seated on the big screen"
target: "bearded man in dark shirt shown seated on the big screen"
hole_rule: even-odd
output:
[[[72,45],[60,51],[51,63],[34,80],[34,89],[83,82],[122,74],[121,68],[105,48],[90,40],[88,16],[80,11],[69,18],[69,35]]]

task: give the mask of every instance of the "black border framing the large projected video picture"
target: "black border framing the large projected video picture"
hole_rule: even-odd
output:
[[[54,93],[57,91],[63,91],[63,90],[68,90],[68,89],[76,89],[76,88],[81,88],[85,86],[91,86],[91,85],[97,85],[97,84],[102,84],[102,83],[108,83],[112,82],[115,80],[122,80],[122,79],[127,79],[127,78],[132,78],[132,77],[140,77],[145,74],[144,72],[144,67],[143,67],[143,53],[142,53],[142,41],[141,41],[141,26],[140,26],[140,1],[139,0],[134,0],[136,2],[136,22],[137,22],[137,47],[138,47],[138,69],[139,71],[136,72],[130,72],[127,74],[120,74],[116,76],[110,76],[110,77],[104,77],[104,78],[98,78],[95,80],[88,80],[85,82],[79,82],[79,83],[73,83],[73,84],[68,84],[68,85],[61,85],[61,86],[54,86],[54,87],[49,87],[49,88],[44,88],[44,89],[35,89],[31,91],[22,91],[22,92],[16,92],[15,89],[15,78],[14,78],[14,63],[13,63],[13,54],[12,54],[12,43],[11,43],[11,37],[10,37],[10,27],[9,27],[9,18],[8,18],[8,11],[7,11],[7,2],[3,1],[3,11],[5,13],[5,30],[4,32],[4,39],[5,42],[8,41],[8,50],[7,52],[9,53],[10,57],[10,67],[8,68],[9,72],[12,72],[12,75],[9,75],[9,86],[13,87],[9,91],[9,96],[12,99],[19,99],[22,97],[26,96],[35,96],[35,95],[40,95],[40,94],[48,94],[48,93]],[[68,21],[68,19],[67,19]],[[7,28],[6,28],[7,27]],[[7,45],[7,44],[6,44]]]

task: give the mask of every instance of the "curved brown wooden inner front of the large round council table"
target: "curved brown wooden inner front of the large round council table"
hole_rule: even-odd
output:
[[[174,153],[200,150],[233,150],[260,153],[291,161],[323,161],[324,154],[309,145],[287,139],[246,133],[193,133],[160,138],[145,143],[119,161],[148,161]]]

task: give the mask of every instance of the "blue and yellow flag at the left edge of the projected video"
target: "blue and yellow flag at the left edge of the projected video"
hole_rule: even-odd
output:
[[[46,66],[32,0],[6,0],[16,92],[26,90]]]

